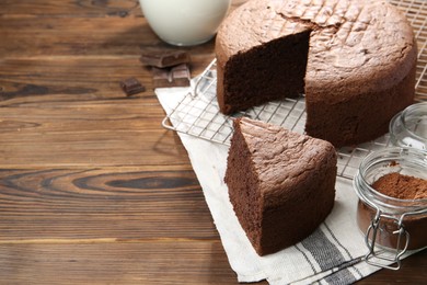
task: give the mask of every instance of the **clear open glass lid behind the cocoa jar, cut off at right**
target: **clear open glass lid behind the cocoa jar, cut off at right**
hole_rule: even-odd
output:
[[[392,145],[427,149],[427,102],[409,105],[397,113],[389,128]]]

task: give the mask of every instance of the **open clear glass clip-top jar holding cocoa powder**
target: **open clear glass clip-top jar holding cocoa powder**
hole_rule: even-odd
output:
[[[371,152],[360,163],[354,189],[359,197],[357,224],[368,247],[366,261],[399,270],[406,250],[427,247],[427,198],[395,198],[371,186],[393,172],[427,180],[427,151],[393,147]]]

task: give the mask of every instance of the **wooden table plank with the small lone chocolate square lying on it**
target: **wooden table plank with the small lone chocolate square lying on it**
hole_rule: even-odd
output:
[[[215,58],[210,53],[192,57],[192,76],[203,72]],[[1,59],[0,59],[1,60]],[[158,104],[151,69],[129,57],[38,57],[2,59],[0,69],[0,106],[49,101],[97,101],[126,99],[119,82],[136,77],[147,91],[136,98]],[[148,101],[147,101],[148,100]]]

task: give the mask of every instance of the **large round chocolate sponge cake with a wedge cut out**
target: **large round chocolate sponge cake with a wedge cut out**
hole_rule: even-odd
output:
[[[335,147],[386,133],[414,100],[413,30],[386,1],[250,0],[221,24],[216,54],[222,113],[304,93],[307,134]]]

